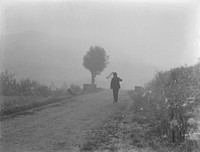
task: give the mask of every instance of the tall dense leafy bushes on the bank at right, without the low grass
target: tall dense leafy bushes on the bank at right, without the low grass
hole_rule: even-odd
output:
[[[179,151],[192,151],[199,140],[195,132],[196,106],[200,103],[200,63],[158,72],[143,95],[133,93],[135,110],[150,122],[151,132]]]

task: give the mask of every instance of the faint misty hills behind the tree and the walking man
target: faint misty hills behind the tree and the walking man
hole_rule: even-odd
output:
[[[90,73],[82,66],[83,55],[90,45],[87,40],[78,40],[70,36],[58,36],[38,31],[24,31],[0,38],[3,49],[3,69],[8,69],[16,77],[31,78],[61,86],[64,81],[82,85],[90,83]],[[122,77],[122,88],[133,88],[149,81],[155,73],[152,65],[134,61],[110,61],[110,64],[97,76],[97,85],[109,87],[105,77],[112,71]]]

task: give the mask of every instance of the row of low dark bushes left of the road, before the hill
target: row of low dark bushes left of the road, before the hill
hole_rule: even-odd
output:
[[[47,85],[40,84],[39,82],[29,78],[17,81],[14,76],[14,74],[8,71],[0,73],[0,95],[48,97],[52,95],[62,96],[68,93],[65,83],[65,86],[62,86],[61,88],[51,89]],[[81,88],[78,85],[72,84],[70,89],[73,90],[74,93],[81,92]]]

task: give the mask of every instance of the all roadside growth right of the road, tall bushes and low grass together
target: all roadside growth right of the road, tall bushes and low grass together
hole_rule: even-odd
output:
[[[81,151],[200,151],[200,64],[158,72],[134,100],[92,130]]]

